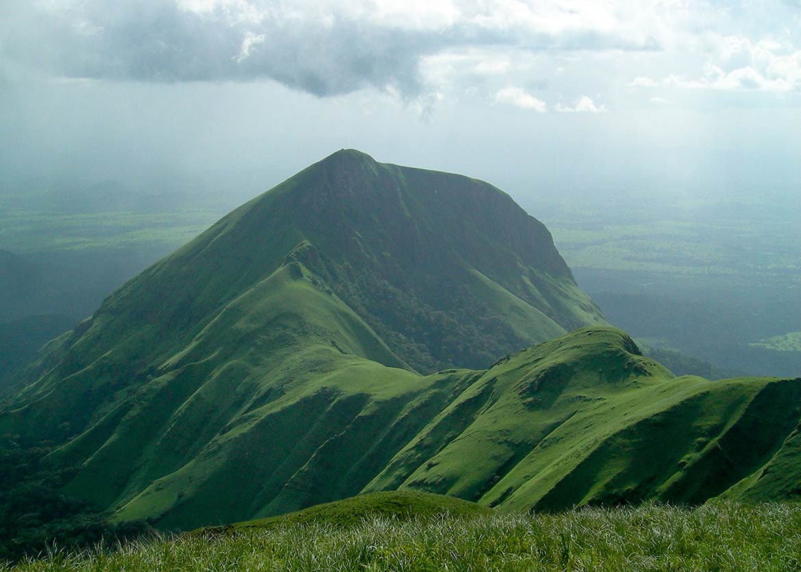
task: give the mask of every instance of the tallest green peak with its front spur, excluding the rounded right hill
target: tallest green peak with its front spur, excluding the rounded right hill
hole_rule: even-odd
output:
[[[0,430],[62,445],[48,462],[79,468],[66,493],[119,520],[266,517],[359,493],[481,375],[416,369],[594,321],[508,195],[340,151],[51,343]]]

